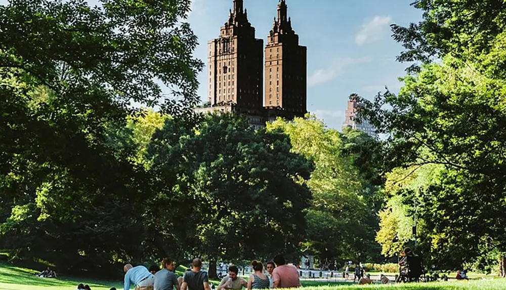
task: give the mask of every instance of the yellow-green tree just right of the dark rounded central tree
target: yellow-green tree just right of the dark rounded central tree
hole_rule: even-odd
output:
[[[268,130],[281,130],[290,136],[293,152],[303,154],[315,163],[308,186],[313,193],[312,205],[306,215],[308,236],[304,243],[307,254],[320,262],[375,259],[377,250],[374,231],[377,220],[374,205],[368,203],[366,188],[369,173],[365,169],[367,147],[373,143],[355,131],[341,134],[325,128],[314,117],[296,118],[293,122],[278,119],[268,124]],[[374,150],[373,148],[370,148]],[[361,156],[364,154],[363,156]],[[374,175],[374,173],[372,173]]]

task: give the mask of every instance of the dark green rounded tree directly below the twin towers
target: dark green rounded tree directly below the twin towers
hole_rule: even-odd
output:
[[[182,253],[199,253],[212,267],[218,259],[297,251],[312,165],[290,149],[286,135],[255,130],[236,115],[209,115],[196,128],[167,120],[149,148],[157,198],[166,200],[149,211],[154,232],[160,240],[178,237]],[[172,176],[174,184],[166,183]],[[167,218],[181,225],[167,227]]]

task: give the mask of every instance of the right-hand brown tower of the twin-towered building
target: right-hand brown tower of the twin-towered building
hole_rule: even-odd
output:
[[[265,106],[304,116],[307,48],[299,45],[299,35],[291,27],[285,0],[279,1],[277,10],[265,48]]]

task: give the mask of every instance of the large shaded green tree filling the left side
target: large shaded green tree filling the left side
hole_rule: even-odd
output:
[[[181,22],[189,7],[187,0],[0,6],[0,240],[15,257],[104,273],[147,256],[149,188],[145,169],[132,162],[138,148],[125,120],[133,102],[196,120],[202,63]]]

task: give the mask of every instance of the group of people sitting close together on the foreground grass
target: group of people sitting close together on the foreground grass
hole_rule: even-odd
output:
[[[292,265],[286,265],[282,255],[278,255],[272,262],[266,265],[267,272],[264,271],[264,265],[259,261],[251,262],[252,273],[248,280],[238,276],[237,266],[228,268],[228,275],[223,277],[217,290],[239,290],[243,287],[250,289],[268,289],[268,288],[292,288],[300,287],[299,272]],[[133,267],[126,264],[123,267],[125,272],[123,287],[124,290],[130,289],[135,285],[136,290],[211,290],[207,272],[201,271],[202,261],[194,259],[191,269],[187,269],[183,277],[177,277],[174,271],[176,265],[174,261],[164,258],[161,262],[161,270],[151,269],[150,272],[144,266]]]

